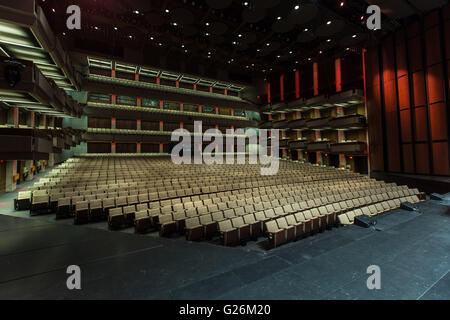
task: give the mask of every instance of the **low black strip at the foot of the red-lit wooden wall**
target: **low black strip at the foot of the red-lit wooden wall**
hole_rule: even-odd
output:
[[[372,171],[371,178],[384,180],[386,182],[395,182],[400,185],[407,185],[410,188],[417,188],[426,193],[445,194],[450,192],[450,178],[444,176],[427,176],[418,174],[403,174]]]

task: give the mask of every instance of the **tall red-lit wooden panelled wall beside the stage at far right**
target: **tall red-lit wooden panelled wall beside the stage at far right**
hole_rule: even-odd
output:
[[[445,78],[450,75],[450,41],[445,41],[450,35],[449,18],[448,5],[443,12],[417,17],[378,47],[368,49],[371,170],[400,168],[405,173],[450,175],[450,87]]]

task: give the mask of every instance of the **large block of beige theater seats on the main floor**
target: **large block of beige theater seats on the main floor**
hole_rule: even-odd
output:
[[[99,178],[96,173],[105,172],[103,164],[127,160],[102,159],[102,165],[78,160],[72,169],[57,169],[67,169],[69,180],[53,175],[37,186],[31,194],[32,207],[47,206],[58,216],[74,215],[76,223],[107,219],[112,229],[134,226],[136,232],[159,230],[161,236],[179,232],[188,240],[220,235],[225,245],[266,235],[278,246],[332,227],[343,214],[380,205],[384,210],[385,203],[394,208],[393,201],[397,205],[400,199],[420,195],[418,190],[346,170],[285,161],[277,175],[262,177],[258,165],[173,166],[167,159],[133,159],[131,167],[146,169],[136,169],[118,182],[111,172],[114,180],[93,180],[89,174]],[[78,175],[77,170],[88,173]],[[170,177],[174,171],[180,176]]]

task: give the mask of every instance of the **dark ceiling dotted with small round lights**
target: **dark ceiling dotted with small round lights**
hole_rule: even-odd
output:
[[[226,69],[242,80],[263,77],[347,48],[361,47],[442,0],[39,0],[53,30],[75,48],[120,56],[123,48]],[[66,28],[77,4],[82,29]],[[379,4],[382,29],[366,28]],[[157,62],[156,62],[157,63]],[[195,73],[195,72],[194,72]],[[238,79],[236,79],[238,80]]]

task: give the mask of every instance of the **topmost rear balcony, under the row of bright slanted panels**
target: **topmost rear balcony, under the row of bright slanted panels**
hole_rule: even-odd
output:
[[[87,59],[89,74],[83,81],[87,91],[109,92],[114,86],[118,94],[258,111],[256,105],[240,97],[245,89],[241,85],[101,58]]]

